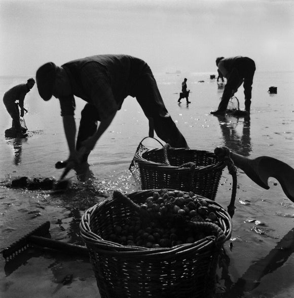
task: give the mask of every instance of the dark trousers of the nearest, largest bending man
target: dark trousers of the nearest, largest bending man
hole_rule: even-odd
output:
[[[152,73],[146,73],[138,78],[136,85],[133,86],[132,94],[132,96],[136,97],[145,116],[153,123],[154,130],[159,138],[169,143],[172,147],[188,148],[186,139],[176,127],[163,103]],[[96,132],[98,121],[100,121],[96,107],[89,103],[85,105],[81,116],[77,150],[79,150],[84,140]],[[88,155],[89,153],[85,155],[84,161],[87,160]]]

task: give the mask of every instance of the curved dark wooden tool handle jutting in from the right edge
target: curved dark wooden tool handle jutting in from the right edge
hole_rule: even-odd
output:
[[[228,150],[227,147],[217,147],[214,154],[222,159]],[[268,156],[249,159],[232,151],[230,151],[230,157],[236,167],[243,170],[253,182],[264,189],[270,188],[268,185],[269,177],[276,178],[285,195],[294,202],[294,169],[289,165]]]

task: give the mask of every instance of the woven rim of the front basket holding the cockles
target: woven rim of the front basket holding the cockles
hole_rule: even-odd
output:
[[[166,189],[167,191],[175,191],[174,189]],[[125,194],[126,196],[136,196],[138,194],[149,194],[151,192],[160,191],[160,189],[152,189],[152,190],[141,190],[136,191],[133,193]],[[183,193],[189,193],[183,191]],[[222,245],[230,239],[232,234],[232,221],[231,217],[225,210],[225,208],[216,203],[213,200],[210,200],[208,198],[205,198],[203,196],[195,194],[198,198],[206,200],[208,203],[214,205],[218,210],[215,212],[217,213],[217,216],[219,217],[219,220],[222,221],[222,225],[226,228],[223,230],[224,232],[224,240],[222,240]],[[124,255],[125,257],[136,257],[136,256],[144,256],[144,257],[160,257],[160,258],[169,258],[170,255],[173,256],[183,256],[186,254],[193,253],[200,253],[201,251],[207,249],[208,247],[215,246],[216,244],[216,236],[209,235],[204,237],[203,239],[200,239],[194,243],[189,244],[180,244],[171,248],[145,248],[145,247],[138,247],[138,246],[124,246],[118,243],[114,243],[111,241],[103,240],[99,235],[95,234],[90,229],[90,221],[91,216],[95,214],[95,211],[98,208],[101,208],[105,204],[110,204],[113,201],[112,198],[106,199],[103,202],[99,202],[95,204],[94,206],[88,208],[88,210],[84,213],[82,216],[81,222],[80,222],[80,232],[81,236],[84,239],[86,245],[88,248],[94,248],[95,252],[100,252],[107,255],[112,256],[121,256]]]

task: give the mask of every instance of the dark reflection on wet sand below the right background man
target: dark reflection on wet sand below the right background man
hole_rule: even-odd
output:
[[[226,114],[218,115],[217,118],[220,129],[222,130],[225,146],[237,154],[249,156],[252,151],[250,115],[238,117]]]

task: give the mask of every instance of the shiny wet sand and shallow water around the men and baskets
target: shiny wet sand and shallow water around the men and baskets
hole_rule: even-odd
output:
[[[209,114],[218,105],[223,90],[209,73],[156,74],[168,111],[191,148],[213,151],[226,145],[235,153],[256,158],[271,156],[294,167],[294,73],[256,73],[252,90],[250,119],[216,117]],[[28,76],[29,77],[29,76]],[[181,81],[188,78],[189,106],[182,100],[177,105]],[[0,77],[0,96],[27,77]],[[204,81],[204,82],[199,82]],[[277,94],[270,95],[270,86]],[[242,87],[236,94],[244,108]],[[77,124],[84,102],[77,99]],[[148,123],[136,100],[127,98],[114,122],[99,140],[89,157],[92,177],[78,183],[71,171],[72,186],[62,195],[47,191],[7,188],[19,176],[55,177],[62,170],[55,162],[67,158],[59,103],[43,102],[36,86],[26,96],[25,115],[29,136],[6,139],[4,131],[11,119],[3,103],[0,111],[0,249],[17,241],[49,220],[53,239],[83,244],[79,221],[83,212],[104,200],[113,190],[132,192],[140,189],[128,167],[135,150],[148,134]],[[146,140],[148,147],[158,147]],[[227,206],[231,196],[232,178],[224,170],[216,201]],[[238,170],[236,212],[232,239],[225,244],[225,256],[217,270],[218,296],[222,297],[291,297],[294,290],[294,204],[284,195],[279,183],[269,179],[269,190],[254,184]],[[258,220],[261,225],[256,225]],[[258,222],[256,222],[258,223]],[[230,243],[233,244],[230,249]],[[61,283],[72,274],[68,285]],[[21,278],[19,278],[21,277]],[[36,282],[38,281],[38,282]],[[33,250],[15,262],[0,260],[0,292],[3,297],[17,296],[79,297],[99,296],[94,274],[87,260]]]

